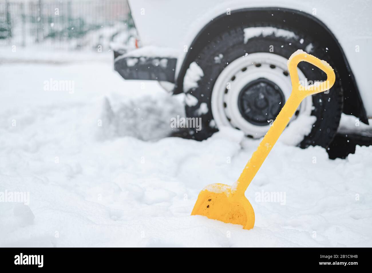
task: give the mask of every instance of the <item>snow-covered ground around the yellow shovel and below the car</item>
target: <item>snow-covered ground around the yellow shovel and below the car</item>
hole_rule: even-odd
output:
[[[3,53],[0,195],[29,199],[0,202],[0,246],[372,246],[372,146],[329,160],[278,142],[246,192],[256,224],[243,230],[190,212],[204,186],[238,178],[258,140],[167,137],[180,98],[124,81],[110,53]],[[73,91],[45,90],[50,79]]]

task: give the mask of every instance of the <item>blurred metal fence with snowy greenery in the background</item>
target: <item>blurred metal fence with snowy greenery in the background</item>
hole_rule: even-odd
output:
[[[132,27],[126,0],[0,0],[0,45],[97,48]]]

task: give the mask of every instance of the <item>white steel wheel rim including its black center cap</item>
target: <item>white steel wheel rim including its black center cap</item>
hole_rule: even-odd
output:
[[[306,77],[298,69],[299,80]],[[273,53],[251,53],[230,64],[218,76],[211,107],[218,128],[231,126],[253,138],[264,136],[291,94],[287,59]],[[312,99],[305,98],[291,121],[311,115]],[[290,121],[290,122],[291,122]]]

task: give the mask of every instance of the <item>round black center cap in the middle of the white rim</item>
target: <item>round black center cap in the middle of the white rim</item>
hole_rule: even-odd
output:
[[[268,120],[274,120],[284,103],[283,91],[266,78],[249,82],[238,97],[241,116],[258,126],[266,126]]]

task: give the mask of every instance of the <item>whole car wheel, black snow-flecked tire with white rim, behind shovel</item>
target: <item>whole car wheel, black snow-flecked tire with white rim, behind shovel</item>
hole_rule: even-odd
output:
[[[266,27],[268,33],[263,32],[263,34],[259,34],[256,36],[248,35],[247,38],[244,29],[248,29],[251,27]],[[268,117],[273,117],[273,119],[275,119],[276,115],[279,113],[281,107],[284,105],[285,100],[288,97],[288,92],[290,92],[290,90],[288,90],[290,87],[288,87],[287,82],[285,84],[282,84],[282,89],[284,90],[281,90],[282,94],[280,94],[280,92],[277,90],[279,84],[274,81],[286,81],[286,79],[283,78],[280,73],[286,76],[288,78],[288,81],[290,81],[288,71],[286,71],[286,65],[282,63],[298,49],[310,51],[308,53],[327,61],[335,70],[336,82],[328,92],[322,92],[319,94],[315,94],[312,97],[308,97],[310,99],[311,109],[309,110],[309,101],[307,101],[307,114],[308,116],[316,117],[316,121],[312,125],[312,128],[308,129],[310,133],[304,136],[299,143],[295,144],[299,145],[302,148],[308,147],[310,145],[320,145],[322,147],[328,147],[337,132],[342,113],[343,97],[341,81],[337,73],[337,68],[334,67],[332,60],[328,57],[327,48],[325,45],[321,45],[321,41],[319,43],[316,39],[308,37],[305,33],[302,33],[298,30],[288,30],[280,26],[275,26],[275,28],[273,28],[269,24],[267,24],[266,26],[247,25],[244,27],[238,26],[235,28],[231,28],[228,31],[221,33],[220,35],[211,39],[211,41],[200,50],[197,58],[195,58],[195,60],[192,62],[194,63],[194,66],[196,64],[201,69],[202,73],[200,77],[196,78],[198,80],[195,85],[187,84],[187,71],[184,79],[184,92],[186,93],[186,116],[191,118],[201,118],[202,123],[202,130],[190,128],[189,133],[191,135],[191,138],[196,140],[205,140],[208,137],[212,136],[213,133],[217,132],[218,127],[220,127],[221,125],[226,125],[225,123],[227,121],[229,121],[228,125],[237,129],[244,130],[248,137],[262,137],[268,130],[267,124],[264,123],[270,122],[270,118],[267,118],[267,120],[265,120],[263,111],[269,109],[269,111],[267,111],[269,112]],[[229,102],[230,100],[233,101],[230,106],[231,109],[227,109],[227,114],[225,115],[226,117],[220,117],[220,121],[219,123],[217,123],[215,116],[219,116],[220,112],[223,112],[225,110],[219,109],[219,112],[217,110],[213,111],[213,109],[216,109],[218,107],[221,108],[221,106],[216,106],[218,102],[216,102],[213,97],[216,97],[216,94],[218,92],[222,92],[216,90],[220,90],[221,88],[223,89],[222,85],[228,85],[229,81],[232,81],[235,77],[231,77],[231,74],[225,75],[225,77],[231,78],[230,80],[229,78],[227,78],[227,80],[229,81],[227,81],[225,78],[224,81],[224,79],[221,79],[221,75],[225,73],[224,71],[229,70],[234,63],[237,63],[238,65],[238,60],[243,60],[245,57],[247,58],[247,60],[251,58],[250,61],[247,62],[254,62],[254,58],[262,60],[262,62],[264,62],[262,67],[264,66],[266,70],[263,70],[265,72],[260,72],[258,69],[256,69],[257,65],[259,64],[249,64],[250,66],[246,68],[247,71],[242,71],[246,74],[244,74],[244,76],[241,76],[239,74],[239,86],[241,88],[241,90],[239,91],[240,94],[237,95],[238,91],[234,91],[234,95],[231,95],[231,97],[235,98],[228,98]],[[276,65],[270,65],[270,59],[273,59],[273,62]],[[240,65],[242,64],[244,64],[244,62],[240,61]],[[251,69],[251,67],[253,67],[252,65],[256,66],[256,68]],[[192,66],[190,65],[190,68],[191,67]],[[270,74],[270,69],[268,67],[275,67],[272,69],[273,75]],[[279,69],[279,67],[281,70]],[[235,67],[234,69],[236,70],[238,68],[239,67],[237,66],[237,68]],[[298,68],[299,72],[302,73],[305,79],[307,79],[308,81],[325,80],[326,78],[326,75],[323,71],[307,62],[301,62],[298,65]],[[244,68],[241,68],[241,70],[243,69]],[[230,70],[232,71],[232,69]],[[240,73],[240,71],[238,72]],[[192,73],[192,71],[190,73]],[[258,77],[257,75],[260,75],[260,73],[262,73],[262,77],[259,77],[259,80],[258,82],[256,82],[255,85],[255,82],[253,81]],[[247,87],[246,85],[244,86],[244,88],[246,89],[243,90],[242,86],[244,85],[244,77],[246,79],[250,78],[249,80],[251,82],[247,82],[247,84],[253,84],[253,87],[251,85]],[[267,80],[267,78],[270,77],[275,80]],[[220,82],[219,85],[221,85],[221,87],[219,87],[219,85],[217,87],[216,84],[218,84],[218,82]],[[232,82],[230,82],[230,84],[232,84]],[[268,108],[266,110],[261,110],[262,103],[257,103],[258,106],[261,108],[257,108],[257,105],[249,105],[254,104],[253,101],[259,101],[259,99],[252,96],[256,96],[255,94],[257,94],[257,88],[261,88],[260,86],[265,86],[263,90],[266,90],[266,95],[262,97],[264,100],[263,107],[265,105],[269,105],[267,106]],[[228,94],[228,92],[230,92],[230,90],[226,88],[225,93]],[[286,93],[285,96],[283,95],[284,93]],[[284,98],[283,96],[286,98]],[[235,103],[237,97],[238,99]],[[226,98],[222,98],[222,101],[224,101],[224,99]],[[245,102],[241,103],[242,100],[245,100]],[[278,104],[278,101],[280,101],[279,108],[276,106]],[[283,103],[281,103],[281,101],[283,101]],[[221,104],[221,100],[219,100],[219,104]],[[226,108],[226,103],[223,102],[223,104]],[[236,108],[244,108],[244,105],[246,105],[246,108],[248,108],[245,110],[240,109],[241,117],[239,117]],[[254,109],[255,107],[258,110]],[[251,111],[252,108],[254,109],[254,111]],[[293,119],[297,118],[298,115],[301,114],[298,113],[301,108],[302,104]],[[234,123],[229,120],[230,117],[228,117],[228,113],[235,113],[234,118],[236,120],[234,121]],[[223,116],[223,113],[221,115]],[[233,114],[231,114],[231,116],[233,116]],[[243,118],[248,122],[247,124],[244,124]],[[251,123],[253,123],[253,126],[251,126]],[[239,126],[236,126],[237,124],[239,124]]]

